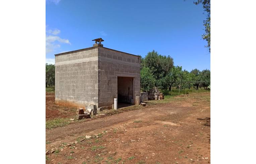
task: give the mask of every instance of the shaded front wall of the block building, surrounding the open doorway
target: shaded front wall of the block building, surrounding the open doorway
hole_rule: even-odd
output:
[[[133,77],[133,95],[140,96],[139,56],[99,47],[99,107],[111,108],[118,97],[117,77]]]

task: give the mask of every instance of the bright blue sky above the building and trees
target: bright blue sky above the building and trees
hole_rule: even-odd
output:
[[[205,17],[192,0],[46,0],[46,62],[101,37],[107,48],[142,57],[155,50],[188,71],[210,69]]]

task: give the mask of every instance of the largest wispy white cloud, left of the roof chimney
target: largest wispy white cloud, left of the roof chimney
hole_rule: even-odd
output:
[[[56,36],[60,33],[59,29],[47,29],[48,25],[46,25],[46,33],[48,33],[49,35],[46,35],[45,38],[45,45],[46,45],[46,53],[52,52],[55,49],[60,48],[60,43],[66,43],[66,44],[70,44],[68,39],[62,39],[59,36]]]

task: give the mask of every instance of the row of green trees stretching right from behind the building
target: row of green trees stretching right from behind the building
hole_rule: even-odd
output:
[[[210,85],[208,81],[210,81],[210,70],[193,69],[190,72],[182,70],[181,66],[174,66],[172,57],[162,56],[154,50],[141,59],[140,87],[143,92],[148,92],[154,86],[169,90],[172,87],[207,89]]]

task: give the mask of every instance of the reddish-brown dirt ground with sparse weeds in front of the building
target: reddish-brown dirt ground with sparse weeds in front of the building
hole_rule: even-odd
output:
[[[210,93],[49,129],[46,141],[53,164],[210,163]]]

